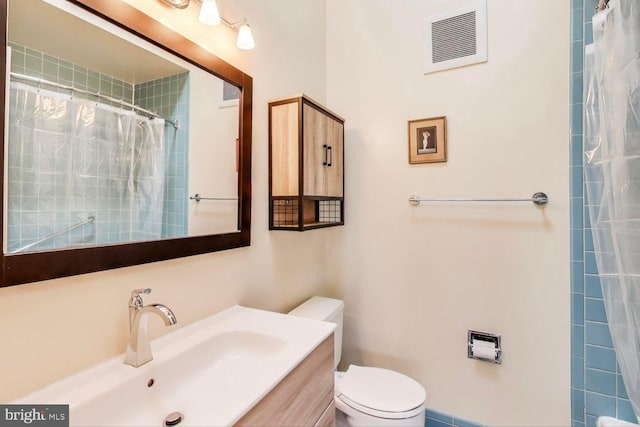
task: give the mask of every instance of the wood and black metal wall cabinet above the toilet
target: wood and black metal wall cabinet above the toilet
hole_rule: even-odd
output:
[[[344,119],[306,95],[269,103],[269,229],[344,224]]]

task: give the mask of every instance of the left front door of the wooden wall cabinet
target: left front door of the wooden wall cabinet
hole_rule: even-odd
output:
[[[325,196],[327,116],[303,104],[304,195]]]

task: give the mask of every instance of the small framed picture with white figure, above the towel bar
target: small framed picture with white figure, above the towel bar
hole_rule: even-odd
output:
[[[409,163],[447,161],[447,118],[409,121]]]

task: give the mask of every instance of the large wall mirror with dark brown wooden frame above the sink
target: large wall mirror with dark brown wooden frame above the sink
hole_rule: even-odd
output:
[[[249,245],[250,76],[124,1],[0,1],[2,286]]]

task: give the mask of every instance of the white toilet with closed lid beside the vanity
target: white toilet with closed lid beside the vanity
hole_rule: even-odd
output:
[[[344,303],[313,297],[289,314],[335,323],[335,367],[342,355]],[[336,423],[340,426],[424,426],[426,392],[406,375],[350,365],[335,374]]]

